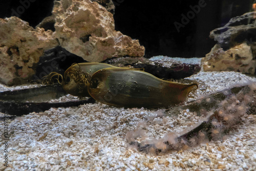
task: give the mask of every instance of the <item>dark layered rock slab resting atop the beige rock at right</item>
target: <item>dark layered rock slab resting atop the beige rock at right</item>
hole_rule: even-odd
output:
[[[256,40],[256,12],[245,13],[244,15],[231,18],[229,22],[210,32],[210,38],[218,41],[224,50],[241,44]]]

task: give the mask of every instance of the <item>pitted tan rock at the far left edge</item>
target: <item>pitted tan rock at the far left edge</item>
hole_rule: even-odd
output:
[[[56,47],[52,31],[33,29],[17,18],[0,18],[0,81],[12,85],[27,82],[44,50]]]

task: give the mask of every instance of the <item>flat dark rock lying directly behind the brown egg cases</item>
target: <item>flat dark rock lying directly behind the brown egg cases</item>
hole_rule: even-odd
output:
[[[179,63],[173,60],[171,65],[166,66],[161,62],[151,61],[144,57],[121,57],[104,62],[117,67],[144,68],[145,72],[164,79],[181,79],[196,74],[201,70],[198,64]]]

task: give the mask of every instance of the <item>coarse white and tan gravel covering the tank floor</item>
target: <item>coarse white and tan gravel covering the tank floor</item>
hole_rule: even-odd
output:
[[[201,71],[189,79],[204,81],[208,93],[256,81],[237,72]],[[0,84],[1,91],[13,89],[21,87]],[[68,95],[60,100],[65,99],[77,98]],[[256,115],[248,115],[219,140],[161,156],[137,152],[125,140],[128,132],[142,128],[157,139],[181,132],[200,119],[188,110],[178,117],[172,113],[154,117],[157,111],[96,102],[8,120],[8,167],[2,143],[0,170],[256,170]],[[4,121],[0,130],[4,142]]]

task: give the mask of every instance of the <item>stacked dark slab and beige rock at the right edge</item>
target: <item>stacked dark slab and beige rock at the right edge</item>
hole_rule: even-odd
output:
[[[238,71],[254,74],[256,67],[256,12],[231,18],[210,32],[217,45],[202,59],[204,71]]]

